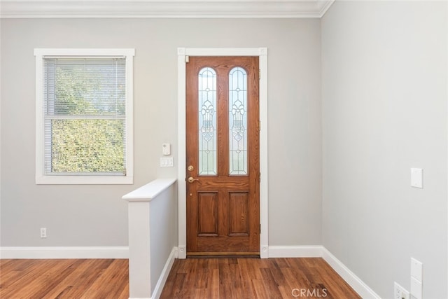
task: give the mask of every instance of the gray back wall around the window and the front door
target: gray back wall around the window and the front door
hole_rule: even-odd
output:
[[[177,174],[158,159],[163,142],[177,155],[178,47],[268,48],[269,244],[321,244],[320,32],[311,19],[1,20],[1,246],[127,246],[122,195]],[[133,186],[35,185],[34,48],[136,49]]]

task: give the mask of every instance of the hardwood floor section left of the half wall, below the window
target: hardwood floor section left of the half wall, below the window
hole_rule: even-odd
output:
[[[0,298],[129,298],[127,260],[0,260]]]

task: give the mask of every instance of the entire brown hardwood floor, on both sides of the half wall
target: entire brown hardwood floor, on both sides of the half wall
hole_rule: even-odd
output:
[[[129,298],[127,260],[0,260],[0,298]],[[360,298],[322,258],[175,260],[161,298]]]

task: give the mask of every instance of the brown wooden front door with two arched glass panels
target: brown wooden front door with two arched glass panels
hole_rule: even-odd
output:
[[[260,253],[258,57],[189,57],[187,255]]]

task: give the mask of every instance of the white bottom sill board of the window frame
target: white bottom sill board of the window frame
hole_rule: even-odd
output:
[[[132,185],[132,176],[36,176],[36,185]]]

